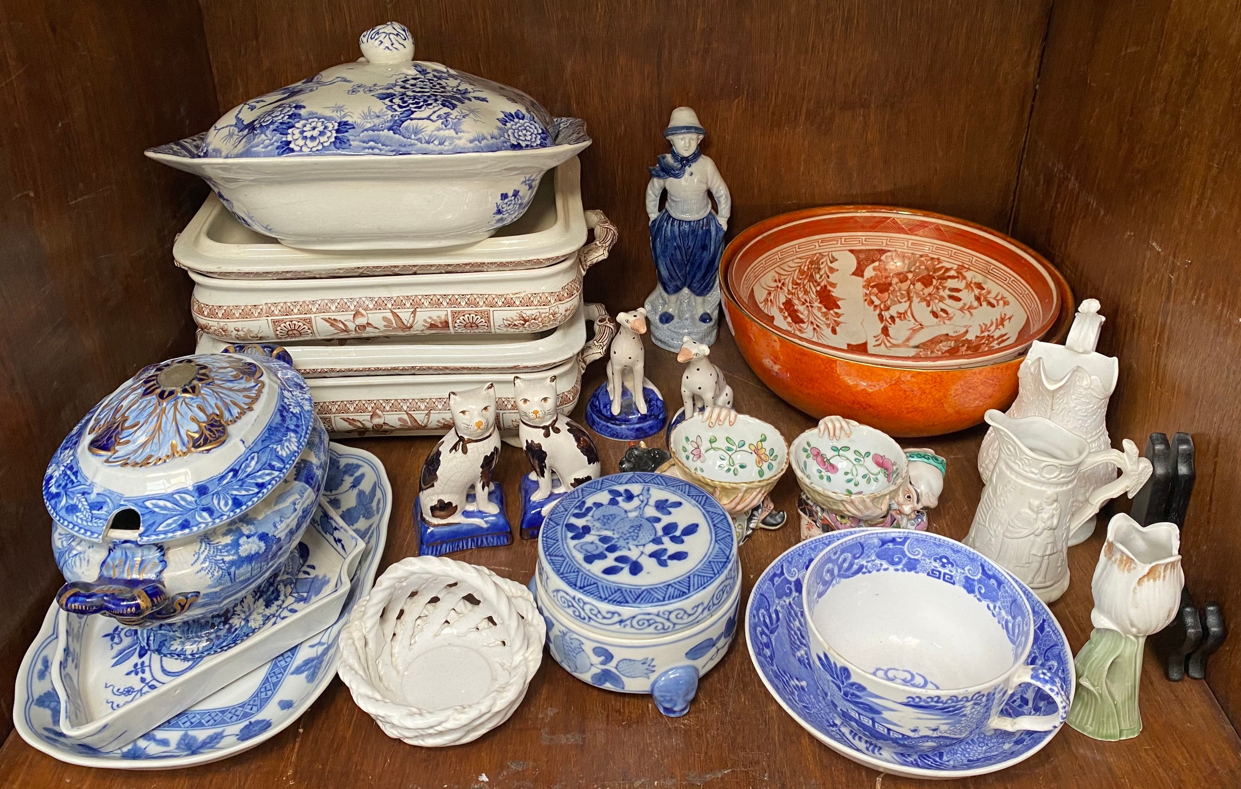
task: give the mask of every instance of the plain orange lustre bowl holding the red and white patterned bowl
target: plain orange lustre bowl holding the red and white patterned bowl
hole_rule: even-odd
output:
[[[725,252],[724,314],[741,355],[768,388],[817,419],[839,414],[898,438],[941,435],[980,423],[988,408],[1005,409],[1016,397],[1024,355],[973,367],[910,368],[841,359],[794,341],[741,309],[728,287],[728,263]],[[1060,272],[1046,269],[1060,308],[1042,339],[1061,342],[1072,323],[1073,294]]]

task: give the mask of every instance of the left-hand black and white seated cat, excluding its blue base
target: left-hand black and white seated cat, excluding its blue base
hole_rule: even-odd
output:
[[[418,500],[427,526],[488,524],[467,511],[499,512],[490,500],[491,473],[500,458],[500,433],[495,429],[495,385],[449,392],[453,413],[449,430],[422,464]],[[467,496],[474,489],[474,501]]]

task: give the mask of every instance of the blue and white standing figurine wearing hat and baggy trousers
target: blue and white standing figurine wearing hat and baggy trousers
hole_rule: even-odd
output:
[[[692,109],[674,109],[664,129],[673,150],[649,167],[647,185],[650,254],[659,277],[659,285],[645,304],[653,318],[650,337],[659,347],[674,352],[686,335],[711,345],[719,330],[720,254],[732,198],[715,163],[699,148],[705,134]],[[664,192],[668,201],[660,211],[659,197]]]

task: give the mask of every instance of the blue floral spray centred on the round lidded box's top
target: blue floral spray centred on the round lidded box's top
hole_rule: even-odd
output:
[[[593,564],[611,557],[612,563],[602,568],[604,576],[618,576],[625,571],[630,576],[638,576],[647,568],[642,559],[668,567],[669,562],[689,558],[688,551],[673,551],[668,547],[668,543],[684,545],[685,538],[697,533],[700,528],[699,524],[681,526],[671,520],[673,511],[683,502],[671,499],[656,499],[652,502],[648,485],[643,485],[637,494],[616,488],[607,493],[607,502],[583,504],[572,512],[571,517],[586,519],[588,524],[565,525],[570,541],[576,543],[573,550],[582,555],[583,562]],[[637,506],[630,506],[634,504]],[[648,515],[648,507],[656,515]]]

